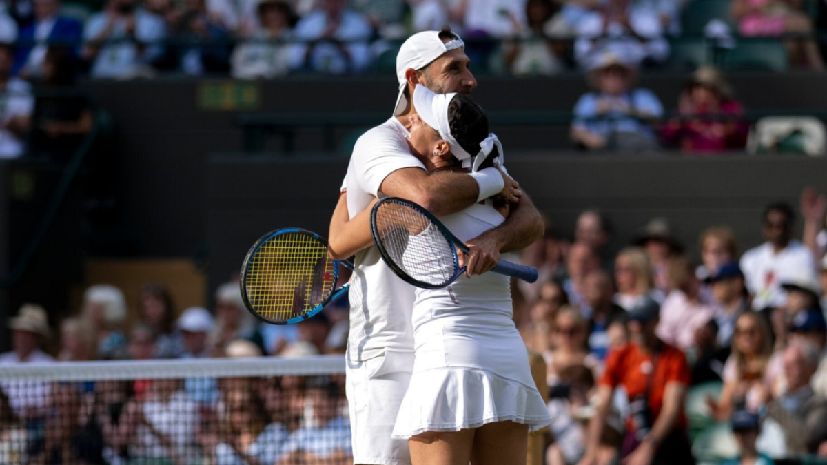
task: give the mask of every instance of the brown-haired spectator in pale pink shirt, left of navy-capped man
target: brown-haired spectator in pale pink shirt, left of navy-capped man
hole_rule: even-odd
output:
[[[672,289],[663,300],[657,337],[684,352],[696,349],[696,334],[713,319],[714,311],[700,296],[695,266],[686,256],[675,256],[667,265]]]

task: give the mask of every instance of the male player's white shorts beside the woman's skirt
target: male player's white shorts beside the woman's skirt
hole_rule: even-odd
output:
[[[407,439],[392,439],[396,415],[414,370],[414,352],[385,352],[361,362],[347,360],[347,405],[353,463],[410,465]]]

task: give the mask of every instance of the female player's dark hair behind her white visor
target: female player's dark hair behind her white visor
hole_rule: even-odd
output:
[[[457,94],[448,104],[448,126],[457,143],[471,156],[480,152],[480,142],[489,134],[488,115],[480,105],[462,94]],[[494,147],[480,168],[492,166],[499,155],[497,147]]]

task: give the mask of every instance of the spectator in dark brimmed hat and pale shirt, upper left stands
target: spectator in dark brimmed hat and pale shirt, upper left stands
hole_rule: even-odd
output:
[[[289,70],[289,40],[298,18],[284,0],[262,0],[257,7],[259,23],[249,41],[233,50],[230,63],[236,79],[272,79]]]

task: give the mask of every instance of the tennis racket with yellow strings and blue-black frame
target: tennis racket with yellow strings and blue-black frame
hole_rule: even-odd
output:
[[[293,324],[322,311],[348,288],[336,288],[339,264],[327,241],[299,228],[277,229],[261,237],[241,266],[241,296],[251,314],[270,324]]]

